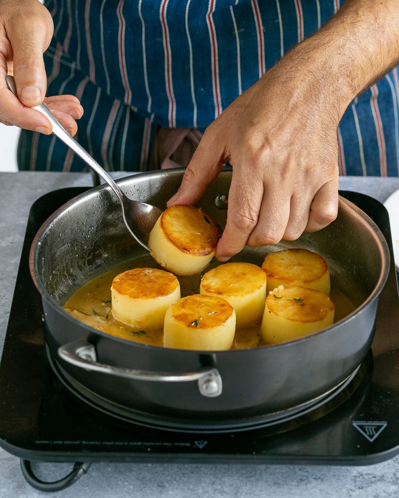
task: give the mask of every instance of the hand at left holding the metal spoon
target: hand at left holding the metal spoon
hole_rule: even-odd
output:
[[[73,95],[44,98],[47,78],[43,52],[53,34],[49,11],[38,0],[0,0],[0,122],[50,134],[52,126],[34,109],[44,102],[52,114],[74,135],[83,115]],[[12,74],[18,99],[7,88],[5,76]]]

